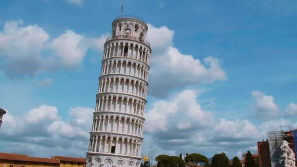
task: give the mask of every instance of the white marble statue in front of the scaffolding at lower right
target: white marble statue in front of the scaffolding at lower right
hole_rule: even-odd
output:
[[[296,167],[295,166],[295,160],[296,160],[295,153],[289,147],[289,144],[287,141],[284,140],[281,143],[280,149],[282,151],[282,155],[280,156],[279,163],[281,163],[283,161],[284,167]]]

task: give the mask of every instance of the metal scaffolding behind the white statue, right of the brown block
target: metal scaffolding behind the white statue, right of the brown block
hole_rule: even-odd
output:
[[[278,126],[274,131],[268,132],[268,141],[269,141],[269,150],[270,150],[270,158],[271,158],[271,167],[282,167],[279,163],[280,155],[281,155],[281,143],[285,137],[285,130],[294,129],[292,126]]]

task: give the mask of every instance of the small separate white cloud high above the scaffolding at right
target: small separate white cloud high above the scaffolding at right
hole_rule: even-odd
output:
[[[273,96],[267,96],[261,91],[253,91],[252,96],[255,100],[255,111],[258,117],[274,117],[280,114],[280,109],[274,102]]]

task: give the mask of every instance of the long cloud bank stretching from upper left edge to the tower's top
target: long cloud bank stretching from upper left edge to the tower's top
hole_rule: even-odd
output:
[[[23,26],[23,21],[6,21],[0,31],[0,70],[8,77],[23,77],[57,68],[77,68],[88,49],[103,49],[105,39],[106,35],[87,38],[66,30],[50,40],[49,34],[38,25]]]

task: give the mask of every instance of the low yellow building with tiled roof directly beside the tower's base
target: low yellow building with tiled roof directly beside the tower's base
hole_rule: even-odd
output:
[[[60,162],[60,167],[85,167],[85,158],[53,156],[53,160]]]

